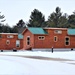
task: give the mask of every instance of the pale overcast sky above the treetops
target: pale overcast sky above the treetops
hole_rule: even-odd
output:
[[[5,15],[5,23],[10,26],[20,19],[28,22],[34,9],[41,11],[47,20],[57,6],[61,8],[61,12],[72,14],[75,10],[75,0],[0,0],[0,12]]]

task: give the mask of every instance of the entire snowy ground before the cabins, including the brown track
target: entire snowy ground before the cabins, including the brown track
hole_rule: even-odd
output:
[[[75,75],[75,51],[0,52],[0,75]]]

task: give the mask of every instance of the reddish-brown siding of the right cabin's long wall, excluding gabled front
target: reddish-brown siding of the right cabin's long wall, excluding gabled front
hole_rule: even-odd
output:
[[[67,35],[67,29],[62,30],[62,34],[55,34],[55,29],[48,29],[48,35],[35,35],[34,48],[75,48],[75,36]],[[57,30],[57,29],[56,29]],[[45,36],[45,40],[38,40],[38,36]],[[54,36],[58,37],[57,42],[54,42]],[[70,37],[70,45],[65,45],[65,37]]]

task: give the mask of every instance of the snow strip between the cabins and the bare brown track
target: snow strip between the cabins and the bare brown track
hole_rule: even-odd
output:
[[[75,60],[75,51],[64,51],[64,52],[43,52],[43,51],[18,51],[18,52],[0,52],[4,55],[19,55],[19,56],[42,56],[52,58],[64,58]]]

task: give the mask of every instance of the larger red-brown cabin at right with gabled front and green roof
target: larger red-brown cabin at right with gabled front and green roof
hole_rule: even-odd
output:
[[[75,29],[27,28],[24,35],[24,49],[75,48]]]

